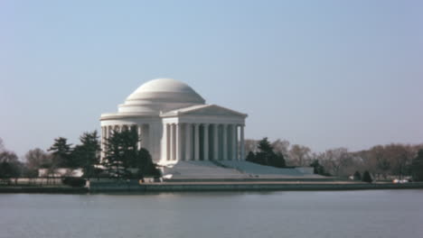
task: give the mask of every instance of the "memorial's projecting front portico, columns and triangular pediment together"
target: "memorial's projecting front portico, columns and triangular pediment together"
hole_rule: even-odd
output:
[[[193,116],[198,110],[209,114],[221,111],[227,116]],[[163,114],[162,158],[172,160],[241,160],[245,157],[243,115],[217,105],[184,110],[177,116]],[[231,117],[231,118],[230,118]],[[167,150],[167,148],[171,148]]]

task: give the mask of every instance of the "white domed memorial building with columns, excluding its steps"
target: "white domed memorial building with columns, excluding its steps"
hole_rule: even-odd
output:
[[[205,104],[192,87],[172,78],[146,82],[118,105],[118,113],[101,114],[101,140],[136,126],[138,146],[155,163],[180,160],[244,160],[247,114]],[[104,152],[102,154],[104,157]]]

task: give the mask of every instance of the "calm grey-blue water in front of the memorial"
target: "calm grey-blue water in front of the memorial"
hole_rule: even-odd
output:
[[[0,237],[423,237],[423,190],[0,194]]]

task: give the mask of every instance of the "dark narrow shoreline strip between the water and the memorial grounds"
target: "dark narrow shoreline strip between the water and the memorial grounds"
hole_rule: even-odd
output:
[[[155,193],[155,192],[212,192],[212,191],[342,191],[381,189],[423,189],[423,182],[405,184],[393,183],[351,183],[351,182],[163,182],[137,184],[134,182],[91,183],[90,188],[63,186],[18,187],[0,186],[0,194],[99,194],[99,193]]]

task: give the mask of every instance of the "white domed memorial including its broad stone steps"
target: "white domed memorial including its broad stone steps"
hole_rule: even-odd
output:
[[[318,178],[313,168],[275,168],[245,160],[247,114],[209,105],[192,87],[172,78],[146,82],[118,105],[101,114],[101,145],[113,131],[136,127],[164,178],[248,179]],[[104,154],[101,155],[104,158]]]

